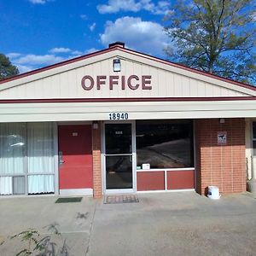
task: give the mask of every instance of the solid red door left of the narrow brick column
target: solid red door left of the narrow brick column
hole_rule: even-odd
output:
[[[58,134],[60,189],[91,189],[91,125],[59,125]]]

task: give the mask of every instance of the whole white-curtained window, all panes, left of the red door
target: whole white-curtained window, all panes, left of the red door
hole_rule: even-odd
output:
[[[0,124],[0,195],[54,192],[52,123]]]

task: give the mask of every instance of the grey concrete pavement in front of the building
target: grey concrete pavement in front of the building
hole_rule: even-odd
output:
[[[47,252],[33,255],[256,255],[255,197],[210,200],[172,192],[138,194],[139,202],[122,204],[90,197],[61,204],[57,196],[1,198],[0,255],[27,248],[20,236],[10,236],[28,229],[48,242]]]

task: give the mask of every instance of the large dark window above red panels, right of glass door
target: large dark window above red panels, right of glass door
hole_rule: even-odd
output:
[[[194,166],[193,123],[190,120],[138,120],[137,168]]]

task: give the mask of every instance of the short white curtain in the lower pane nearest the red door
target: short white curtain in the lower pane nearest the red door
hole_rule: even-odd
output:
[[[28,194],[55,192],[54,175],[29,175]]]

